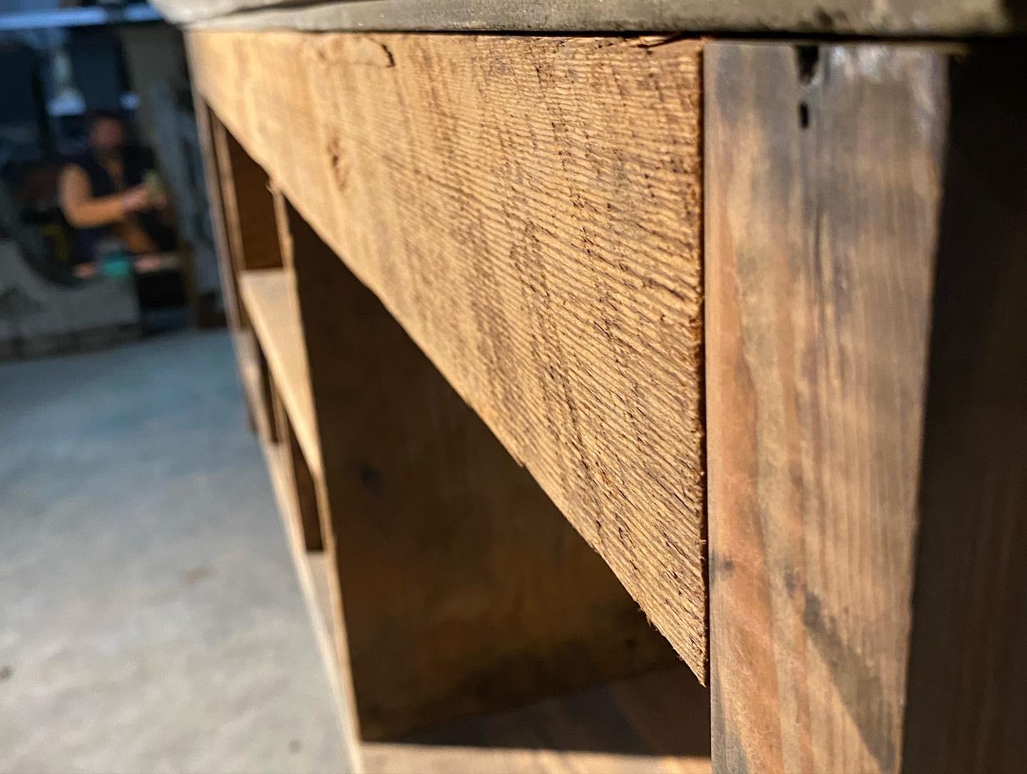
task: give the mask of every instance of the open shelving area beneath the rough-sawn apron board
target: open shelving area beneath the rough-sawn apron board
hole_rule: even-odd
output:
[[[259,266],[224,263],[248,325],[249,402],[266,415],[257,424],[354,770],[709,771],[708,691],[210,118],[233,161],[219,173],[246,169],[249,187],[221,181],[234,217],[256,208],[277,224],[276,255],[262,242]],[[226,231],[240,231],[224,211]],[[224,248],[244,242],[237,233]]]

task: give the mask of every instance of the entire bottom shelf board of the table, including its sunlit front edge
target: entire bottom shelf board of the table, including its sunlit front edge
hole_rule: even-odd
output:
[[[340,723],[352,729],[334,646],[326,556],[303,548],[281,449],[264,439],[261,446]],[[706,774],[709,693],[682,664],[448,723],[395,742],[353,746],[353,770],[368,774]]]

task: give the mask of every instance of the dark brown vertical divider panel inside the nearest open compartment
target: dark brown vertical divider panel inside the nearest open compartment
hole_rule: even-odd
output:
[[[674,662],[528,472],[287,206],[363,738]]]

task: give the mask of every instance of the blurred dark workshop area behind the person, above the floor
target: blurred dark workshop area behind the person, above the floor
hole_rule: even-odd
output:
[[[222,323],[181,34],[146,3],[5,0],[0,8],[0,352]],[[62,170],[89,156],[100,116],[146,154],[144,173],[173,205],[165,220],[175,238],[131,271],[123,244],[85,244],[62,207]]]

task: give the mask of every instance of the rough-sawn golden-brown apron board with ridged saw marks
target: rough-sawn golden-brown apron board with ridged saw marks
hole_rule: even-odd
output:
[[[705,676],[700,45],[189,39],[240,143]]]

